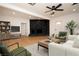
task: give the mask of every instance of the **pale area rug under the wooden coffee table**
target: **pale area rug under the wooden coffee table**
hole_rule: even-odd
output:
[[[25,47],[29,52],[31,52],[32,56],[48,56],[48,49],[39,47],[38,50],[38,45],[33,44],[30,46]]]

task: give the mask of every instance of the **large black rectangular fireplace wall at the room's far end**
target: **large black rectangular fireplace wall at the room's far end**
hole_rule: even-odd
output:
[[[49,35],[49,20],[30,20],[31,35]]]

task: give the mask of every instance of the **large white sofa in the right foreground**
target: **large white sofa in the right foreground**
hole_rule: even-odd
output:
[[[76,36],[74,37],[76,38]],[[73,47],[74,39],[68,39],[64,44],[50,43],[48,45],[49,56],[79,56],[79,48]]]

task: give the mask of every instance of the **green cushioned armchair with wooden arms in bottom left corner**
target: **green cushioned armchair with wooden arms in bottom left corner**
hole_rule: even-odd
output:
[[[12,51],[8,51],[8,47],[11,47],[13,45],[17,45],[17,48],[13,49]],[[31,53],[27,51],[27,49],[19,47],[19,43],[14,43],[7,47],[4,44],[0,43],[0,54],[2,56],[31,56]]]

